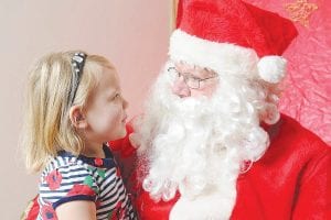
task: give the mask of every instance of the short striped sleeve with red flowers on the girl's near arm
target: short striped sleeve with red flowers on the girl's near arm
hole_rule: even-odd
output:
[[[41,210],[53,211],[74,200],[95,201],[99,186],[95,170],[78,156],[58,154],[43,170],[39,183]]]

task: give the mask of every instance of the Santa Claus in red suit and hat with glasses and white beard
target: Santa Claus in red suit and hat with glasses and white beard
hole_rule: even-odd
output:
[[[277,110],[296,35],[238,0],[180,1],[132,135],[141,219],[327,219],[330,148]]]

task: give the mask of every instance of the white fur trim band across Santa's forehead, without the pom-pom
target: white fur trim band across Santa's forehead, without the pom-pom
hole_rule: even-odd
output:
[[[209,67],[217,74],[258,77],[258,56],[254,50],[206,41],[179,29],[170,37],[169,55],[172,61]]]

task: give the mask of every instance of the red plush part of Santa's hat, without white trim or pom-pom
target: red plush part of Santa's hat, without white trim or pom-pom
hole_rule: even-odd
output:
[[[291,21],[241,0],[182,0],[178,29],[211,42],[253,48],[259,56],[281,55],[297,36]]]

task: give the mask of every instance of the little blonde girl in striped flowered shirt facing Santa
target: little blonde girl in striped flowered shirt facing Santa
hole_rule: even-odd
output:
[[[137,219],[107,141],[126,135],[115,67],[83,52],[42,57],[29,76],[23,144],[42,170],[38,219]]]

